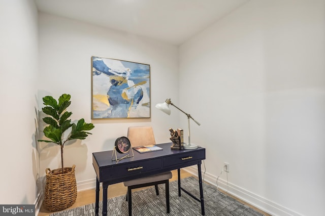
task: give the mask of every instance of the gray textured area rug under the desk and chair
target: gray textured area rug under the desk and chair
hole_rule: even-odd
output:
[[[199,182],[194,177],[182,179],[182,188],[194,196],[200,198]],[[244,216],[261,216],[263,214],[255,211],[247,205],[244,205],[232,197],[229,197],[217,190],[215,186],[204,184],[204,206],[205,215],[244,215]],[[102,192],[102,190],[101,190]],[[109,189],[108,189],[109,192]],[[185,192],[181,192],[181,197],[178,196],[177,181],[170,182],[170,213],[166,213],[165,200],[165,185],[159,185],[159,195],[157,196],[154,187],[144,190],[135,191],[132,193],[132,213],[135,216],[174,216],[187,215],[198,216],[201,215],[201,203],[194,200]],[[107,200],[107,215],[128,215],[127,202],[125,195],[114,197]],[[95,203],[63,210],[50,214],[56,215],[95,215]],[[102,215],[102,202],[100,202],[100,213]]]

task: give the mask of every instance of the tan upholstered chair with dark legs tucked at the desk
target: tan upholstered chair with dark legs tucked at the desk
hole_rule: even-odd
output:
[[[151,126],[132,126],[127,129],[127,138],[131,142],[133,147],[145,146],[156,144],[153,129]],[[145,153],[144,153],[145,154]],[[132,215],[132,189],[142,188],[147,186],[155,186],[156,194],[159,195],[158,185],[165,184],[166,190],[166,207],[167,213],[169,213],[169,179],[172,178],[172,172],[163,172],[161,174],[134,179],[124,182],[124,186],[127,187],[126,200],[128,201],[128,215]]]

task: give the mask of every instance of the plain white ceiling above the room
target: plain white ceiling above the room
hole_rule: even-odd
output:
[[[40,12],[181,45],[249,0],[35,0]]]

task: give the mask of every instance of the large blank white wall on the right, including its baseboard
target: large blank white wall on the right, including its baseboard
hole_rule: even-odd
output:
[[[323,214],[324,59],[323,0],[251,0],[180,47],[207,180],[229,162],[225,190],[274,215]]]

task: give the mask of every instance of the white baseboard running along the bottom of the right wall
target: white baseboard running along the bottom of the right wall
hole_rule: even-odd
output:
[[[198,168],[197,166],[189,166],[184,168],[184,170],[188,171],[193,176],[198,176]],[[271,215],[281,215],[281,216],[302,216],[302,214],[293,211],[291,209],[288,209],[284,206],[281,206],[275,202],[272,202],[271,200],[265,199],[257,194],[254,194],[250,191],[247,191],[241,187],[238,187],[232,183],[227,183],[225,180],[219,178],[218,179],[218,185],[217,185],[217,177],[208,173],[204,174],[204,170],[202,172],[202,180],[205,182],[218,186],[223,191],[226,191],[227,193],[243,200],[244,202],[247,202],[258,209],[261,209]],[[204,188],[203,188],[204,189]]]

